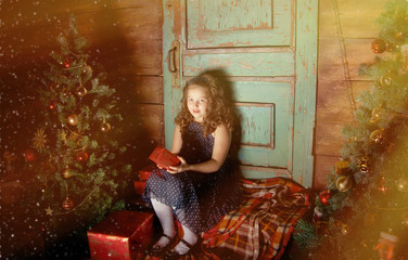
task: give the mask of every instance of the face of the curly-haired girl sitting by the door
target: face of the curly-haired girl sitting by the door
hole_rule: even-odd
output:
[[[203,122],[208,107],[208,92],[206,88],[191,84],[187,89],[187,106],[194,117],[194,121]]]

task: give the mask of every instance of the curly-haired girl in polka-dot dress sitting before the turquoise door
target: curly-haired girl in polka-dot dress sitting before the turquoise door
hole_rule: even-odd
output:
[[[163,227],[151,253],[165,253],[165,259],[191,253],[200,233],[237,208],[241,197],[229,155],[233,114],[224,90],[211,74],[203,73],[187,82],[181,103],[171,147],[181,164],[154,170],[143,194]],[[169,250],[178,237],[174,216],[183,237]]]

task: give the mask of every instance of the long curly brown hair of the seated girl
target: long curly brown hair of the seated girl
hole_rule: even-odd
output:
[[[182,90],[181,110],[175,119],[176,123],[180,126],[181,132],[183,132],[194,119],[187,106],[187,92],[189,86],[193,84],[206,88],[208,93],[208,106],[203,121],[204,135],[207,136],[209,133],[213,133],[216,128],[222,123],[232,131],[234,116],[230,104],[225,99],[224,89],[211,74],[203,73],[190,79]]]

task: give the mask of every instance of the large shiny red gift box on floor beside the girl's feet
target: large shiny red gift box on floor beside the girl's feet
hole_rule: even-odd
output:
[[[143,259],[153,237],[153,213],[119,210],[88,232],[91,259]]]

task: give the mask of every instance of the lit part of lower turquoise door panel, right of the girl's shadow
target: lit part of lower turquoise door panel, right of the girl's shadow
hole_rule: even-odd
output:
[[[241,113],[242,145],[239,151],[241,164],[284,168],[290,172],[292,148],[289,147],[293,133],[293,84],[255,80],[233,81],[232,91],[235,102],[246,105],[246,109],[240,109],[238,106]],[[254,116],[254,112],[258,114]],[[248,144],[245,140],[260,140],[262,142]],[[266,145],[268,141],[269,144]]]

